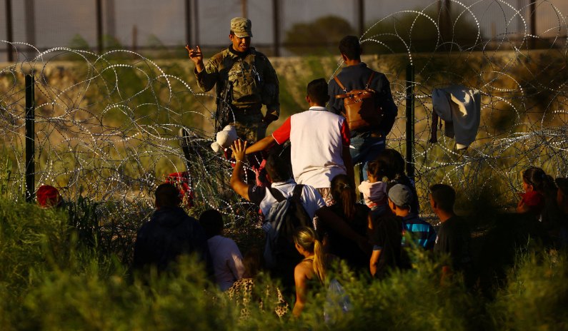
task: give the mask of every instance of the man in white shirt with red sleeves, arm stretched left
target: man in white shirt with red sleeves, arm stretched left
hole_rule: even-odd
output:
[[[329,205],[329,188],[336,175],[347,174],[354,183],[349,153],[349,127],[343,116],[327,111],[329,101],[324,78],[311,81],[306,101],[309,110],[290,116],[271,136],[246,148],[246,153],[263,151],[274,144],[291,144],[292,173],[296,183],[317,188]]]

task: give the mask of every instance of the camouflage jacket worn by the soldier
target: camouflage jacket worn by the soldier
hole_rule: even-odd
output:
[[[276,71],[269,59],[253,47],[244,58],[228,48],[224,49],[209,59],[204,71],[194,73],[197,84],[204,92],[216,86],[216,96],[222,99],[226,83],[231,82],[229,99],[233,106],[251,108],[264,104],[266,113],[279,116],[279,82]]]

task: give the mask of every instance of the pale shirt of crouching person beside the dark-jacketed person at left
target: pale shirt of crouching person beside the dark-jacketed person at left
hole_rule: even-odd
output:
[[[236,280],[243,277],[243,257],[236,243],[221,235],[214,235],[207,240],[209,254],[213,261],[215,282],[222,291],[227,290]]]

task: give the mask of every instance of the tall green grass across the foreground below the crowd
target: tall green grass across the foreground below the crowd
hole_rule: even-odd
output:
[[[92,205],[91,205],[92,207]],[[89,210],[88,207],[86,210]],[[82,208],[82,207],[79,207]],[[117,211],[118,213],[118,211]],[[85,214],[81,214],[85,215]],[[117,217],[117,216],[115,216]],[[71,217],[72,218],[72,217]],[[81,219],[81,218],[76,218]],[[494,300],[467,290],[461,278],[440,284],[441,261],[413,250],[413,270],[371,280],[339,265],[328,281],[343,285],[352,308],[324,322],[327,284],[312,287],[302,316],[276,317],[269,277],[256,282],[250,317],[182,258],[169,275],[129,272],[120,246],[92,245],[66,210],[0,199],[2,330],[563,330],[567,256],[524,253]],[[527,252],[525,250],[525,252]],[[290,306],[293,306],[289,298]]]

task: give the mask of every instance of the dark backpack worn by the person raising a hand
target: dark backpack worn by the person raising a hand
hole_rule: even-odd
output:
[[[312,218],[302,205],[302,189],[304,185],[294,187],[292,195],[284,197],[279,190],[268,188],[276,198],[272,205],[266,222],[262,229],[266,232],[266,244],[264,245],[264,263],[269,269],[274,269],[282,260],[294,260],[299,257],[294,246],[294,230],[299,226],[312,228]]]

